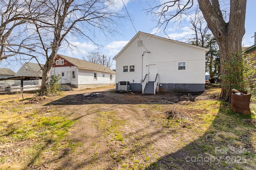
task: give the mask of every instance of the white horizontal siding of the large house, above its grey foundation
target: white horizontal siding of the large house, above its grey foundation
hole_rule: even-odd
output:
[[[116,83],[130,81],[140,83],[148,74],[148,65],[156,64],[160,83],[204,84],[205,83],[205,51],[182,43],[140,34],[144,46],[150,53],[143,56],[146,49],[137,47],[137,40],[116,57]],[[178,70],[178,62],[186,62],[186,70]],[[123,72],[123,66],[135,65],[135,72]],[[129,69],[129,68],[128,68]]]

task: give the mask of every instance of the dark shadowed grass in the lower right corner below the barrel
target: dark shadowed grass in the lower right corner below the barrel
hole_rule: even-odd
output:
[[[148,170],[256,169],[255,120],[220,104],[218,115],[199,139],[152,162]]]

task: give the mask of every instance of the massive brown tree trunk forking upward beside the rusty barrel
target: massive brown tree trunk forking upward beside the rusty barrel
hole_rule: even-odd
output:
[[[214,34],[220,48],[220,69],[222,78],[221,100],[231,100],[231,90],[233,87],[243,87],[242,72],[242,38],[245,33],[245,11],[246,0],[231,0],[229,21],[225,22],[218,0],[198,0],[200,10]],[[226,68],[224,65],[229,62],[232,66],[233,57],[240,63],[240,66]]]

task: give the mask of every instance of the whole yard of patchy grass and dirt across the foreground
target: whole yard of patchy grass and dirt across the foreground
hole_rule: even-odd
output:
[[[255,115],[218,92],[0,95],[0,170],[256,169]]]

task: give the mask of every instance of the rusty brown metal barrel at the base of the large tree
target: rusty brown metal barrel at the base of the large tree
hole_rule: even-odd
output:
[[[250,110],[251,94],[248,94],[248,92],[243,90],[238,90],[238,91],[244,93],[245,95],[237,95],[232,92],[231,110],[236,111],[238,113],[242,113],[243,115],[251,115],[251,110]]]

